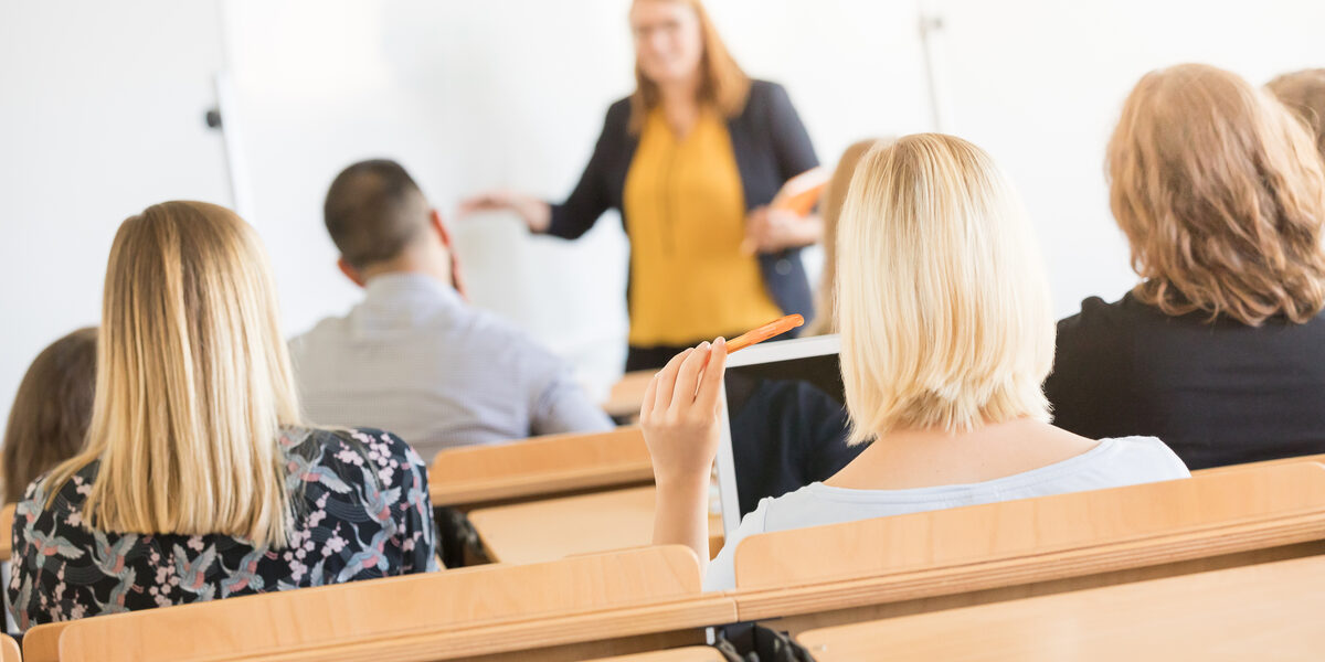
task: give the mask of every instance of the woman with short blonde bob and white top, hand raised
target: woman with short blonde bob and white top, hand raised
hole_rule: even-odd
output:
[[[937,134],[874,147],[839,232],[847,409],[852,442],[869,448],[822,483],[762,500],[713,561],[709,588],[734,584],[737,545],[765,531],[1189,475],[1157,438],[1093,441],[1048,424],[1048,286],[1020,204],[979,148]],[[641,410],[653,540],[701,559],[725,363],[722,339],[686,350]]]

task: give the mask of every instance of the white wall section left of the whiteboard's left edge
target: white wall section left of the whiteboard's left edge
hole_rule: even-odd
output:
[[[229,201],[203,123],[215,19],[209,3],[0,0],[0,416],[41,348],[98,322],[121,221]]]

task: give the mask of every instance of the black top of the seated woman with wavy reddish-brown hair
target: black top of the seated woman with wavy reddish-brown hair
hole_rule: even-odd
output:
[[[1077,434],[1159,437],[1190,469],[1325,453],[1325,314],[1249,327],[1128,294],[1059,322],[1045,393]]]

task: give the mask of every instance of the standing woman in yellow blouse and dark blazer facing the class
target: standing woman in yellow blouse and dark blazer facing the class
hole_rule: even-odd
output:
[[[700,0],[636,0],[629,20],[636,90],[608,109],[570,197],[490,192],[464,211],[510,209],[531,232],[567,240],[620,211],[635,371],[783,314],[812,316],[800,248],[823,229],[816,216],[767,207],[819,166],[786,90],[737,66]]]

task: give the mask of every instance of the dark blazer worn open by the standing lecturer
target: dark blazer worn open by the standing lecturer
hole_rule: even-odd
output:
[[[629,98],[607,109],[594,156],[571,196],[564,203],[553,205],[547,234],[578,238],[608,209],[621,213],[623,225],[629,222],[621,197],[625,192],[625,173],[635,159],[635,148],[640,144],[640,138],[631,135],[628,130],[629,119]],[[747,212],[771,203],[788,179],[819,166],[810,134],[800,123],[796,109],[791,106],[787,90],[778,83],[754,81],[745,110],[727,120],[727,132],[731,135],[731,151],[741,173]],[[800,249],[761,254],[759,267],[778,307],[788,315],[799,312],[806,320],[814,318],[814,298],[806,267],[800,263]]]

